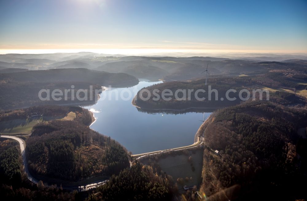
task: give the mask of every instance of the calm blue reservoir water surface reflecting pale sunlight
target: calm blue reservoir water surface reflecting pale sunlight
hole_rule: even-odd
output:
[[[102,98],[95,105],[85,107],[97,118],[91,128],[117,140],[133,154],[193,144],[195,133],[202,124],[199,120],[204,118],[203,113],[166,114],[157,111],[148,114],[138,111],[131,104],[138,90],[158,83],[161,82],[140,81],[134,87],[102,92]],[[128,97],[128,91],[131,97]],[[116,100],[116,93],[123,93],[126,100],[120,97]],[[204,114],[207,119],[211,113]]]

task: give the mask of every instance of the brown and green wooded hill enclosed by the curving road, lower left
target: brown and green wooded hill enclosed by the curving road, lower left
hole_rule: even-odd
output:
[[[125,148],[77,120],[40,123],[26,143],[34,175],[77,181],[119,173],[130,165]]]

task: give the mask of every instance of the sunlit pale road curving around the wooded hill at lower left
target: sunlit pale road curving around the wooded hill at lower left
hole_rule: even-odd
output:
[[[9,139],[13,139],[16,140],[17,142],[19,142],[20,145],[20,150],[21,150],[21,157],[22,157],[22,163],[24,166],[24,170],[26,173],[27,178],[32,181],[34,184],[38,183],[38,180],[35,179],[30,173],[29,173],[29,169],[28,169],[28,164],[27,164],[27,158],[25,155],[25,141],[22,140],[19,137],[15,137],[15,136],[6,136],[6,135],[1,135],[0,137],[3,138],[9,138]],[[90,190],[92,188],[96,188],[100,185],[105,184],[107,181],[109,180],[99,180],[99,181],[95,181],[95,183],[91,183],[91,184],[87,184],[84,186],[63,186],[62,188],[65,190],[77,190],[77,191],[87,191]],[[47,186],[48,187],[48,186]]]

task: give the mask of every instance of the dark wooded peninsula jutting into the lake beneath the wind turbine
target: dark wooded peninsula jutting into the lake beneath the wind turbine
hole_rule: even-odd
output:
[[[150,91],[150,99],[148,100],[142,100],[140,91],[138,91],[138,94],[133,100],[133,104],[143,108],[143,109],[153,109],[153,110],[186,110],[189,108],[223,108],[226,106],[233,106],[237,105],[240,102],[242,102],[239,99],[239,91],[242,89],[247,89],[250,91],[250,95],[252,99],[252,90],[255,89],[265,89],[264,86],[269,87],[294,87],[291,89],[304,89],[305,85],[298,84],[298,82],[301,80],[301,82],[304,82],[303,79],[305,77],[302,77],[300,79],[298,78],[284,78],[280,79],[281,81],[278,82],[278,79],[275,79],[276,77],[281,77],[282,75],[280,73],[267,73],[266,75],[262,76],[254,76],[254,77],[217,77],[217,78],[210,78],[208,79],[208,85],[205,85],[205,80],[193,80],[193,81],[186,81],[186,82],[180,82],[180,81],[173,81],[173,82],[165,82],[161,84],[154,84],[150,87],[145,87],[143,89],[147,89]],[[216,100],[216,93],[212,92],[211,94],[211,100],[208,99],[209,95],[209,86],[211,87],[211,90],[217,90],[218,99]],[[170,100],[163,100],[162,99],[162,91],[165,89],[169,89],[172,91],[172,95],[165,96],[166,98],[171,98]],[[176,90],[184,90],[185,94],[181,91],[178,93],[179,98],[185,97],[186,100],[176,100],[175,92]],[[195,92],[199,89],[205,90],[205,92],[199,92],[198,97],[200,99],[205,98],[204,100],[197,100],[195,97]],[[236,92],[229,93],[230,98],[236,98],[234,101],[229,101],[226,98],[226,92],[229,89],[234,89]],[[153,98],[156,98],[157,95],[153,92],[153,90],[159,90],[156,94],[158,97],[160,97],[158,100],[155,100]],[[191,100],[188,100],[188,90],[193,90],[191,92]],[[290,91],[290,90],[289,90]],[[293,104],[293,103],[301,103],[305,104],[306,99],[304,97],[295,95],[294,93],[289,93],[285,90],[283,91],[269,91],[270,101],[277,102],[279,104]],[[243,98],[246,98],[246,93],[244,92],[242,94]],[[144,92],[142,94],[144,98],[147,98],[147,93]],[[222,100],[221,100],[222,98]],[[259,93],[256,93],[255,96],[256,99],[259,98]],[[266,92],[262,94],[263,100],[266,100]]]

